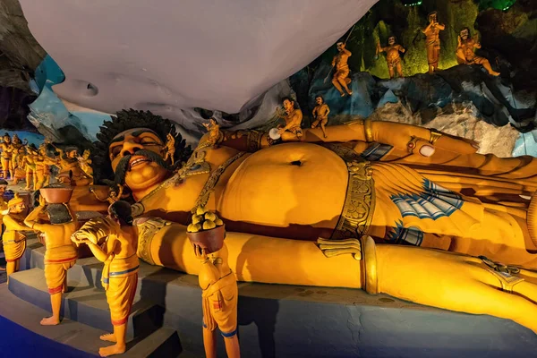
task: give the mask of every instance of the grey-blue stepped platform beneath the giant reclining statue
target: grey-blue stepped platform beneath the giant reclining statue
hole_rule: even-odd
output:
[[[28,241],[22,270],[10,278],[9,289],[49,311],[44,252],[36,239]],[[89,258],[69,270],[62,313],[109,331],[102,266]],[[527,358],[537,352],[537,336],[510,320],[442,311],[383,294],[239,283],[239,295],[244,357]],[[198,277],[141,262],[128,356],[203,356],[200,297]],[[218,347],[218,356],[226,356],[221,337]]]

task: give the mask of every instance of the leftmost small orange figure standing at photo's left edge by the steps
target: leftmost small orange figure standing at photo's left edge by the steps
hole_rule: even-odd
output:
[[[2,199],[4,201],[4,199]],[[21,231],[30,231],[28,226],[23,224],[26,205],[24,200],[15,192],[15,196],[7,203],[7,210],[4,214],[5,231],[2,237],[4,243],[4,254],[7,271],[7,283],[9,276],[19,270],[19,260],[26,250],[26,235]]]

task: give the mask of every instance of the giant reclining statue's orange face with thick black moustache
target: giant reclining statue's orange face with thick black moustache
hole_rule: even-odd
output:
[[[125,171],[124,183],[137,191],[162,182],[168,175],[160,154],[162,148],[163,142],[157,133],[147,128],[134,128],[115,136],[108,147],[108,155],[114,172]]]

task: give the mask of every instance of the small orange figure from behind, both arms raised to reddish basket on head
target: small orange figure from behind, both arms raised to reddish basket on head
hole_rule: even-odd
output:
[[[65,190],[65,188],[49,185],[41,191],[44,192],[47,189],[49,191]],[[24,220],[26,226],[45,234],[47,249],[45,251],[45,279],[47,280],[48,294],[50,294],[52,316],[41,320],[40,323],[43,326],[55,326],[60,323],[62,293],[67,290],[67,270],[72,268],[78,258],[78,252],[71,241],[71,235],[76,231],[77,219],[66,203],[69,199],[62,200],[65,201],[64,203],[49,203],[47,215],[50,218],[50,224],[38,224],[39,214],[47,205],[47,201],[41,195],[39,196],[39,206],[33,209]]]

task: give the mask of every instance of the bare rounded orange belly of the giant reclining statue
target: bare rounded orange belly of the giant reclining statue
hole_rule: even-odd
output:
[[[334,227],[345,201],[345,162],[307,143],[262,149],[231,176],[220,200],[226,219],[263,226]]]

